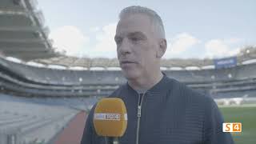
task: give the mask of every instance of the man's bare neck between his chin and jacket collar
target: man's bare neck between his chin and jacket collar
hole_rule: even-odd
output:
[[[136,78],[136,79],[128,79],[128,84],[134,90],[150,90],[151,87],[156,85],[161,81],[163,74],[159,71],[158,74],[153,74],[152,76]]]

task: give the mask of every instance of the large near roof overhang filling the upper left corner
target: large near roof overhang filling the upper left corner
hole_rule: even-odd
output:
[[[28,61],[59,56],[34,0],[0,1],[0,52]]]

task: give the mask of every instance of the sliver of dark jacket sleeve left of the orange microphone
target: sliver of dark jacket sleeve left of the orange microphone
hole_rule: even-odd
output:
[[[94,107],[90,110],[88,117],[86,119],[86,126],[83,130],[81,144],[94,144],[94,125],[93,125],[93,115]]]

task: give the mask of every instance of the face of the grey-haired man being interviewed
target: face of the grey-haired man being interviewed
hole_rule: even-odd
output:
[[[127,79],[145,76],[155,69],[158,41],[153,26],[145,14],[133,14],[118,22],[114,40]]]

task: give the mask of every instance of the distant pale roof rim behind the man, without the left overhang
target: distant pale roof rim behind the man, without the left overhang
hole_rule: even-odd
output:
[[[238,64],[242,62],[249,61],[250,59],[256,59],[256,47],[246,46],[240,51],[238,55]],[[118,67],[117,58],[76,58],[76,57],[56,57],[56,58],[46,58],[46,59],[37,59],[34,62],[39,62],[46,65],[60,65],[60,66],[82,66],[82,67]],[[196,58],[172,58],[172,59],[162,59],[162,67],[187,67],[187,66],[212,66],[214,65],[213,59],[196,59]]]

